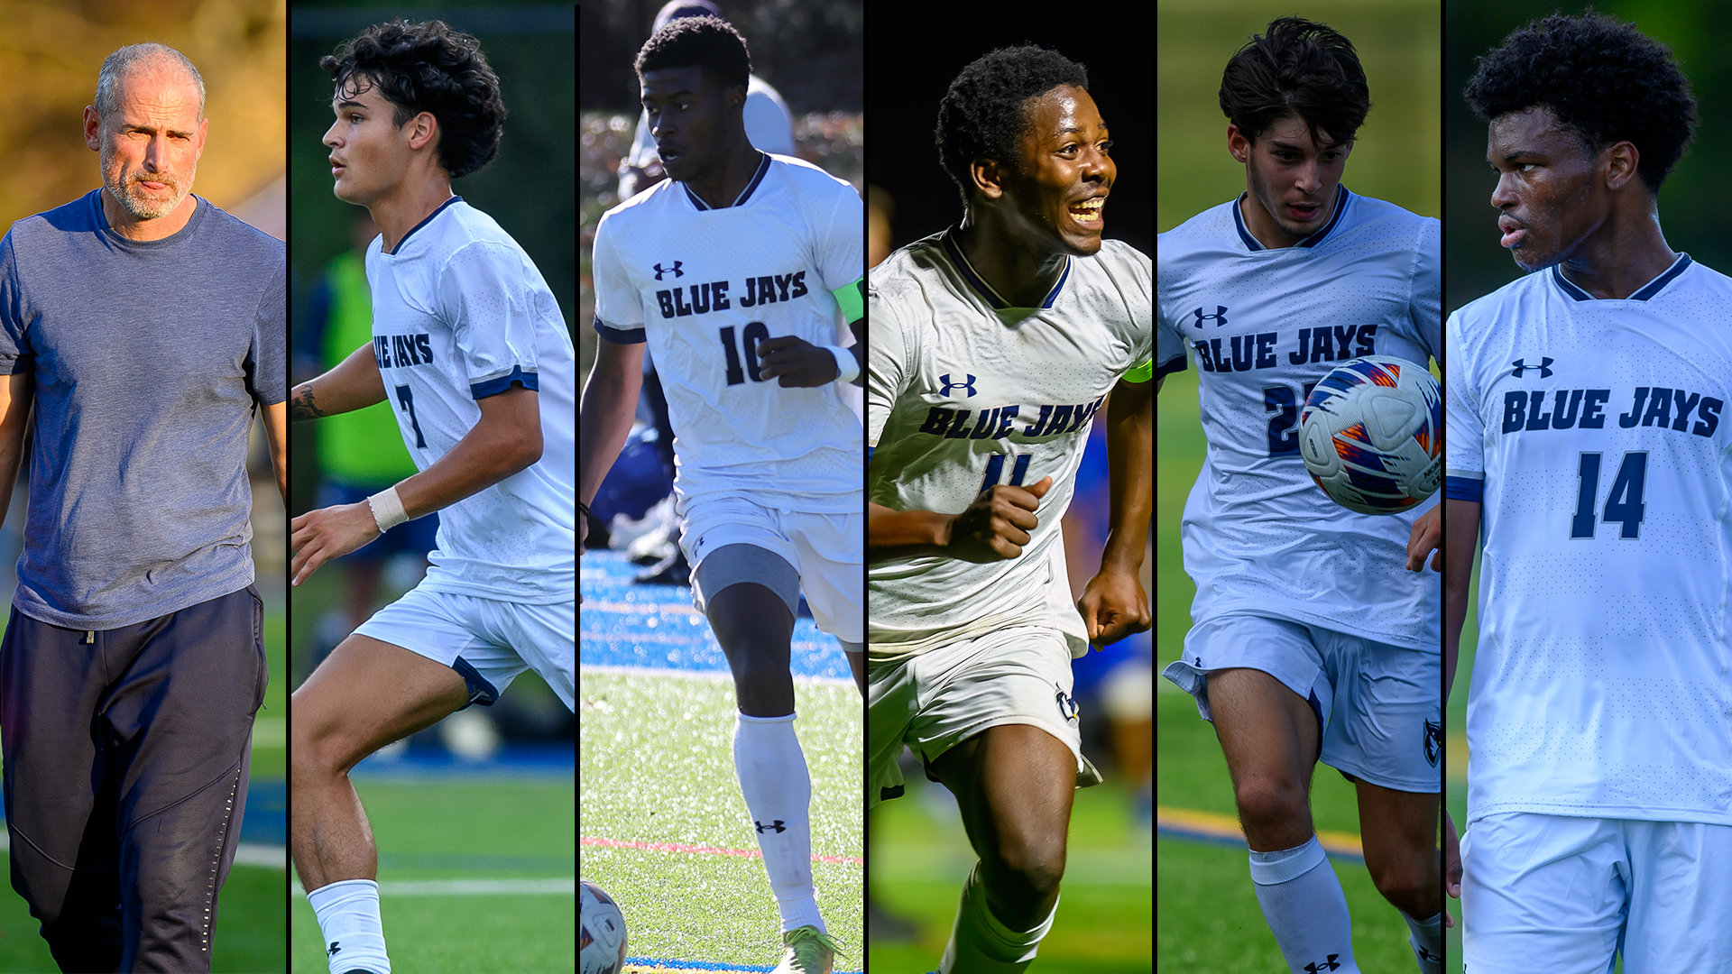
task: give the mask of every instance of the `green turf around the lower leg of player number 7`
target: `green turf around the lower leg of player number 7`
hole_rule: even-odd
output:
[[[381,882],[572,875],[570,783],[359,778],[355,790],[379,846]],[[313,912],[305,896],[293,901],[294,969],[324,971]],[[397,971],[527,974],[572,971],[575,962],[570,894],[391,896],[386,891],[379,913]]]

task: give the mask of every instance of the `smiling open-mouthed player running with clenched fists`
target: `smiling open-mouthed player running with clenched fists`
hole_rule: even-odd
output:
[[[1088,71],[994,50],[939,104],[963,218],[873,269],[868,802],[908,745],[980,861],[939,971],[1024,971],[1053,925],[1082,757],[1070,659],[1148,629],[1148,256],[1102,239],[1117,179]],[[1107,406],[1112,537],[1070,601],[1060,516]]]

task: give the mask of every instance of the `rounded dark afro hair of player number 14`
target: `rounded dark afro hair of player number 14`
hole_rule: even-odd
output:
[[[1630,142],[1654,192],[1696,133],[1696,99],[1671,49],[1593,9],[1533,21],[1476,64],[1462,90],[1474,114],[1491,121],[1543,106],[1588,154]]]

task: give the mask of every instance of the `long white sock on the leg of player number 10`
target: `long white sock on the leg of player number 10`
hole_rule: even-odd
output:
[[[830,932],[818,915],[818,893],[812,889],[812,823],[807,818],[812,776],[805,769],[800,738],[793,733],[793,714],[736,718],[734,771],[764,853],[769,889],[781,910],[781,929],[818,927]]]

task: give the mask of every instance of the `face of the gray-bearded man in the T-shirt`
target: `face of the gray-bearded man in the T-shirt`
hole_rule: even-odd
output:
[[[102,118],[102,185],[139,220],[175,211],[192,192],[204,151],[199,90],[175,71],[133,73]]]

